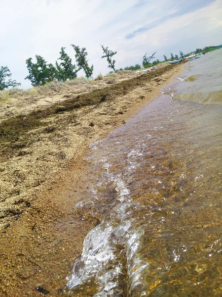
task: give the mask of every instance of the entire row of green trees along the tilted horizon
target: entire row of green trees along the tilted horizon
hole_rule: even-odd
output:
[[[60,51],[60,57],[55,62],[55,65],[51,63],[47,63],[47,61],[40,55],[36,55],[36,62],[33,61],[33,59],[30,57],[26,60],[26,65],[29,74],[26,76],[25,79],[28,79],[31,81],[33,86],[41,86],[48,82],[51,82],[53,80],[65,82],[67,80],[72,80],[77,77],[77,72],[82,69],[85,73],[86,77],[89,77],[93,74],[94,66],[93,64],[89,66],[88,60],[87,60],[87,51],[86,48],[80,48],[76,45],[71,45],[75,51],[75,61],[76,64],[73,63],[72,58],[65,52],[64,47],[61,48]],[[115,60],[113,59],[113,56],[117,53],[117,51],[112,51],[108,47],[102,46],[103,55],[102,58],[106,58],[108,62],[108,67],[112,69],[110,73],[116,72],[118,70],[138,70],[141,68],[141,65],[136,64],[135,66],[127,66],[124,69],[120,68],[118,70],[115,69]],[[211,51],[218,48],[222,48],[221,46],[210,46],[205,47],[203,49],[196,49],[194,52],[202,52],[205,50]],[[179,59],[180,57],[190,55],[190,53],[184,54],[180,50],[180,55],[170,53],[170,59],[167,58],[167,56],[164,54],[163,61],[160,61],[159,59],[153,60],[155,57],[156,52],[151,54],[150,56],[147,56],[147,53],[143,56],[142,59],[142,65],[143,67],[147,68],[153,65],[157,65],[159,63],[169,61],[169,60],[175,60]],[[17,86],[20,86],[20,83],[17,83],[15,80],[11,79],[11,72],[8,69],[7,66],[0,67],[0,91],[7,89],[7,88],[14,88]]]

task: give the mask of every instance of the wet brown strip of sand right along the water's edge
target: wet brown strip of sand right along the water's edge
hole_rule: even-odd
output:
[[[182,64],[170,67],[166,73],[148,79],[144,86],[120,94],[118,99],[77,110],[81,124],[71,127],[69,132],[75,132],[80,142],[75,145],[67,166],[61,166],[55,177],[51,174],[39,187],[31,205],[7,228],[1,229],[0,296],[40,296],[38,286],[48,290],[51,296],[59,296],[58,290],[66,284],[72,259],[81,253],[85,236],[99,222],[99,218],[83,218],[74,210],[76,202],[87,195],[90,166],[83,157],[89,145],[138,113],[159,95],[160,88],[182,72]],[[94,125],[90,127],[94,130],[86,133],[92,121]],[[87,124],[82,125],[84,122]],[[81,292],[76,296],[94,294]]]

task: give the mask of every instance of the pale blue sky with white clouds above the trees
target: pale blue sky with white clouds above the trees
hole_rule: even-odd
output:
[[[101,45],[117,51],[116,68],[142,64],[144,54],[180,54],[222,44],[222,0],[0,0],[0,66],[31,87],[26,59],[55,64],[61,47],[85,47],[93,76],[108,68]],[[79,72],[78,76],[83,75]]]

